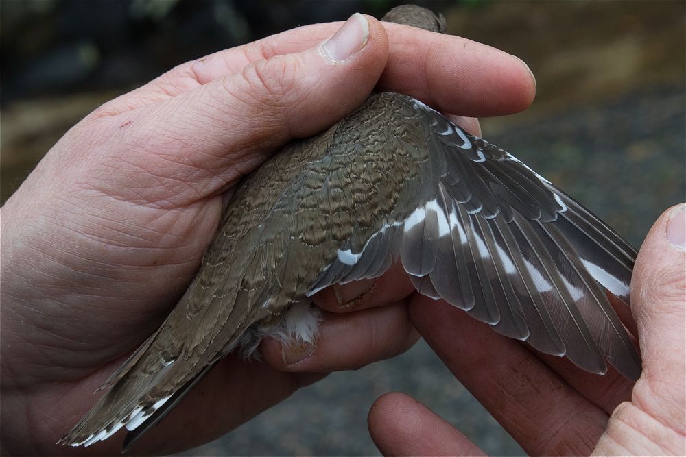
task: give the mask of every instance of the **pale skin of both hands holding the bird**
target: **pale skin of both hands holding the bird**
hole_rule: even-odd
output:
[[[288,140],[335,123],[372,89],[412,95],[475,134],[475,117],[518,112],[534,97],[528,68],[497,49],[365,16],[342,47],[322,51],[340,26],[221,51],[105,103],[8,200],[0,221],[3,454],[119,453],[121,432],[86,449],[55,442],[176,304],[230,189]],[[325,373],[399,354],[421,334],[527,452],[684,454],[686,259],[665,238],[667,219],[644,243],[632,284],[644,361],[635,385],[500,338],[412,293],[394,269],[318,294],[326,320],[316,347],[266,341],[264,362],[222,360],[131,453],[210,441]],[[381,397],[369,426],[384,454],[480,452],[401,394]]]

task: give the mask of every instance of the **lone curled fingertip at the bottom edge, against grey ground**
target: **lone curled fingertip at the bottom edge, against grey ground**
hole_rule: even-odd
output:
[[[486,455],[442,417],[402,393],[381,395],[367,423],[384,456]]]

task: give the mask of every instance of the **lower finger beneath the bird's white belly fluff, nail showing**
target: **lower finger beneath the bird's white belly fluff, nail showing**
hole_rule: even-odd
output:
[[[267,339],[261,354],[286,371],[342,371],[364,367],[407,351],[418,334],[404,303],[348,314],[324,313],[314,345],[289,347]]]

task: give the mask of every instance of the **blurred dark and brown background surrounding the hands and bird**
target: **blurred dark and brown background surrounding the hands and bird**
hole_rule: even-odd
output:
[[[2,0],[1,199],[85,114],[171,66],[356,11],[380,17],[401,3]],[[685,2],[416,3],[442,12],[450,34],[518,55],[536,75],[534,105],[483,119],[484,138],[637,247],[657,216],[685,199]],[[187,455],[377,455],[366,414],[388,391],[413,395],[490,454],[523,452],[420,342],[393,360],[330,375]]]

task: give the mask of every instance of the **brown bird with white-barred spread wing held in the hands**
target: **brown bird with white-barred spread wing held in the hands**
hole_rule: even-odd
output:
[[[415,5],[382,20],[445,32],[445,18]],[[128,449],[217,360],[265,336],[312,343],[311,295],[392,264],[501,335],[637,379],[641,360],[608,299],[630,305],[636,255],[508,152],[417,99],[375,93],[244,177],[185,294],[59,443],[125,427]]]

